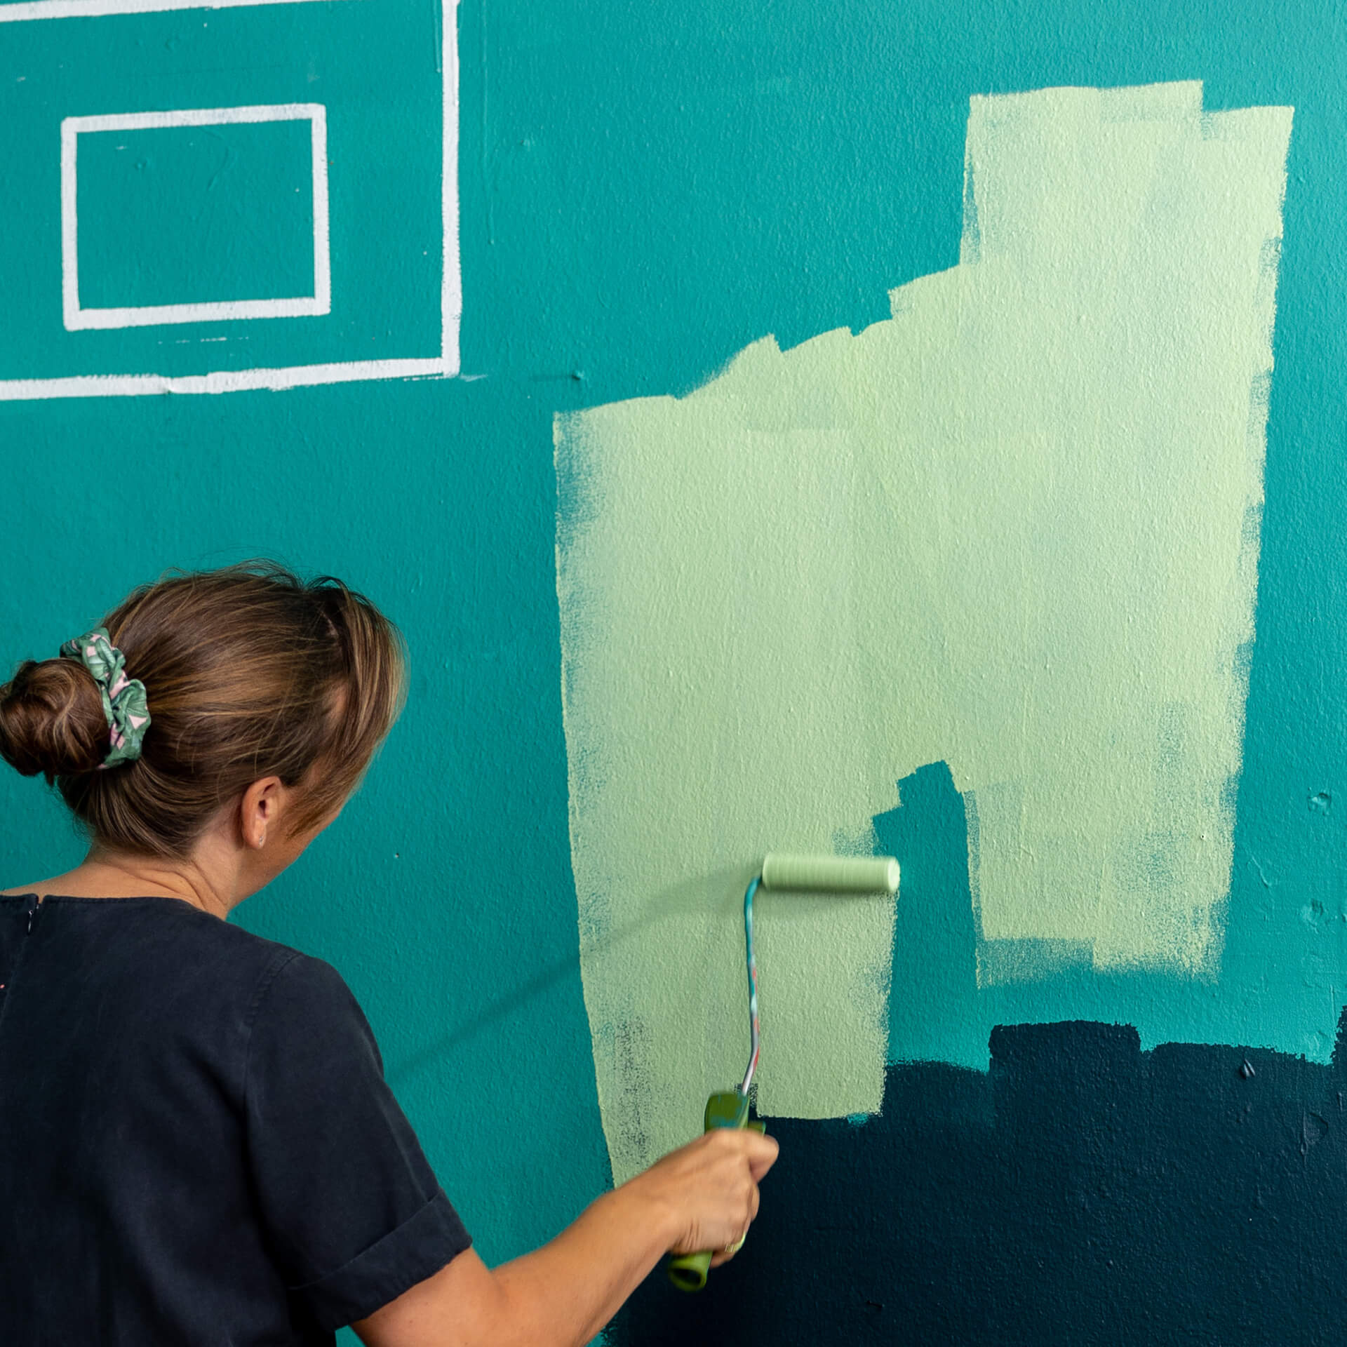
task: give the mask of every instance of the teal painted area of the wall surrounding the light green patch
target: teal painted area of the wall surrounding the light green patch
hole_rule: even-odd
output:
[[[220,335],[63,333],[59,236],[24,252],[19,222],[54,209],[59,117],[154,106],[352,109],[345,154],[368,171],[342,179],[334,132],[331,183],[352,302],[313,333],[242,325],[240,360],[434,339],[438,268],[385,273],[380,240],[424,233],[438,201],[439,13],[343,0],[313,7],[341,11],[314,38],[308,8],[0,26],[0,377],[123,354],[190,372],[189,348],[155,342]],[[467,0],[459,30],[465,377],[0,404],[0,657],[54,652],[168,566],[256,554],[339,574],[403,626],[403,722],[339,824],[238,920],[345,974],[484,1255],[539,1242],[609,1173],[567,845],[552,416],[687,391],[765,333],[858,329],[952,265],[974,93],[1197,78],[1210,109],[1296,121],[1220,979],[1082,974],[993,1002],[970,999],[954,950],[924,995],[954,991],[968,1017],[929,1051],[962,1060],[998,1020],[1098,1016],[1325,1060],[1347,986],[1339,9]],[[79,854],[34,783],[0,777],[0,816],[5,884]],[[959,857],[927,841],[954,884]]]

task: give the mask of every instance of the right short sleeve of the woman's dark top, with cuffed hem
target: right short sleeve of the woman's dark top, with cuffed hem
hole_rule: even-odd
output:
[[[244,1088],[263,1224],[323,1328],[373,1313],[471,1243],[330,964],[295,955],[259,989]]]

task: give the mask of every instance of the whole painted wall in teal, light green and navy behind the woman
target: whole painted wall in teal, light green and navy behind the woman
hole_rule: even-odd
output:
[[[420,0],[0,24],[0,380],[451,354],[445,31]],[[1323,1340],[1347,985],[1336,9],[474,0],[457,50],[458,377],[5,400],[4,657],[54,651],[167,566],[256,554],[343,575],[403,625],[403,723],[238,920],[345,974],[488,1259],[688,1133],[737,1074],[733,908],[762,847],[900,857],[896,909],[781,909],[775,931],[764,909],[761,1102],[785,1149],[762,1220],[704,1299],[652,1278],[614,1340],[1262,1342],[1273,1321]],[[1018,158],[978,139],[1010,94],[1051,104]],[[1145,97],[1169,110],[1141,116]],[[244,104],[329,109],[331,311],[66,330],[61,119]],[[1142,131],[1109,160],[1087,123]],[[1157,123],[1192,158],[1127,198]],[[163,199],[228,240],[207,207],[229,152],[288,186],[302,147],[218,144]],[[1052,195],[1063,163],[1140,202],[1126,238],[1149,252],[1100,233],[1098,193]],[[86,186],[116,202],[105,171]],[[997,220],[1022,218],[987,206],[1028,182],[1037,232],[999,237],[1057,287],[1037,326],[986,280],[1009,265]],[[164,230],[143,265],[92,253],[82,283],[108,306],[242,300],[261,273],[286,292],[303,224],[261,218],[290,240],[275,256],[179,253]],[[183,295],[193,267],[210,284]],[[989,478],[970,427],[1009,408]],[[741,502],[761,489],[757,527]],[[609,583],[643,562],[648,590]],[[752,603],[680,612],[699,586]],[[733,644],[773,605],[808,617],[768,625],[784,683]],[[745,665],[735,700],[718,680]],[[740,737],[740,713],[769,737]],[[595,754],[625,776],[586,775]],[[612,780],[629,788],[605,800]],[[0,792],[7,884],[78,855],[39,787]],[[1008,828],[1021,804],[1032,835]],[[1126,884],[1082,878],[1102,865]]]

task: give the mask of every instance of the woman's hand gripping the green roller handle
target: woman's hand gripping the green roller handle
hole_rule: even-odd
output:
[[[674,1150],[624,1187],[667,1216],[668,1251],[717,1250],[733,1257],[758,1210],[758,1183],[776,1162],[777,1144],[750,1129],[714,1127]]]

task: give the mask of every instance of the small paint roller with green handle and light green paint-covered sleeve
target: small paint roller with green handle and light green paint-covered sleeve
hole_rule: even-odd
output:
[[[898,862],[892,855],[843,857],[843,855],[788,855],[769,853],[762,861],[762,872],[749,881],[744,893],[744,952],[749,973],[749,1025],[750,1048],[749,1065],[744,1080],[733,1090],[719,1090],[706,1100],[703,1126],[713,1127],[753,1127],[762,1131],[757,1118],[749,1118],[749,1087],[757,1071],[760,1030],[757,1010],[757,963],[753,958],[753,896],[758,889],[792,890],[795,893],[896,893],[898,888]],[[741,1239],[727,1251],[737,1253]],[[678,1254],[669,1259],[669,1281],[680,1290],[700,1290],[706,1285],[706,1274],[711,1269],[711,1250],[695,1254]]]

